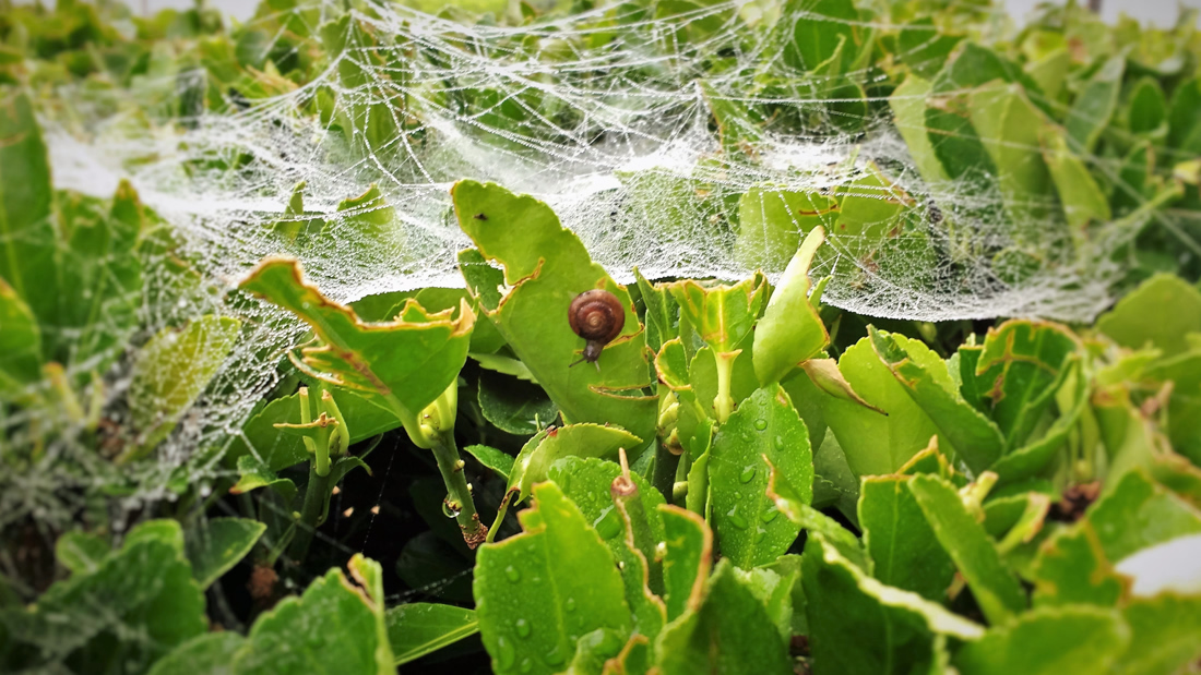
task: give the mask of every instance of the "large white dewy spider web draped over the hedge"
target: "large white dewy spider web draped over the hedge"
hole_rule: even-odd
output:
[[[203,71],[167,72],[130,91],[70,92],[71,115],[47,115],[59,187],[108,195],[118,176],[130,177],[180,233],[197,270],[226,290],[153,290],[150,326],[203,313],[246,319],[217,381],[161,451],[159,484],[187,448],[239,433],[280,356],[304,336],[293,318],[237,300],[233,284],[283,253],[340,301],[461,287],[455,254],[470,241],[449,203],[459,179],[545,200],[623,282],[634,267],[650,278],[734,279],[763,261],[775,277],[791,251],[764,237],[748,245],[754,223],[766,212],[800,228],[821,223],[831,233],[814,269],[832,276],[824,301],[919,320],[1089,320],[1122,272],[1112,252],[1137,229],[1115,228],[1081,255],[1054,234],[1066,231],[1058,210],[1006,204],[986,167],[924,182],[888,98],[832,86],[855,80],[873,91],[870,59],[841,79],[793,72],[757,86],[787,52],[766,4],[687,5],[658,18],[617,5],[516,28],[355,6],[315,4],[251,22],[274,36],[264,54],[285,31],[323,43],[328,61],[303,85],[268,68],[267,94],[222,92],[225,109],[172,121],[173,95],[208,85]],[[776,20],[811,16],[808,7]],[[841,23],[867,35],[895,28],[884,20]],[[877,174],[884,185],[868,180]],[[303,207],[293,199],[300,183]],[[841,231],[836,211],[809,212],[821,197],[795,197],[832,191],[901,201],[904,215],[888,236]],[[740,204],[748,192],[761,198]],[[342,204],[355,195],[364,197]],[[1006,272],[1014,233],[1032,230],[1044,234],[1016,243],[1036,249],[1038,265]],[[208,466],[216,471],[217,458]]]

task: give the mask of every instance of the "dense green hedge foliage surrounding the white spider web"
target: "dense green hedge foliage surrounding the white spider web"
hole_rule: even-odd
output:
[[[743,101],[707,98],[715,162],[757,162],[769,134],[895,129],[913,180],[960,203],[874,164],[808,192],[748,187],[715,207],[712,241],[766,273],[622,285],[610,272],[628,270],[593,261],[550,206],[460,176],[464,288],[339,303],[298,252],[336,248],[342,212],[337,227],[384,236],[392,210],[375,187],[305,210],[299,186],[271,223],[277,254],[216,278],[196,233],[130,182],[106,199],[55,188],[46,129],[85,131],[82,102],[101,100],[114,109],[89,114],[169,135],[305,91],[330,64],[363,86],[336,58],[384,40],[382,8],[265,0],[227,25],[0,2],[0,670],[1199,668],[1195,16],[1153,30],[1068,6],[1016,31],[976,2],[486,5],[443,14],[513,26],[495,34],[509,42],[580,14],[590,49],[627,31],[701,83],[742,62],[723,54],[775,46]],[[775,91],[813,104],[773,108]],[[501,128],[528,112],[461,83],[443,95]],[[392,114],[420,115],[405,102],[305,96],[347,158],[419,140]],[[673,194],[653,193],[665,221]],[[973,218],[1005,229],[956,239]],[[1122,297],[1071,325],[823,302],[837,282],[809,272],[831,251],[872,271],[897,241],[928,270],[987,260],[998,284],[1107,265]],[[575,364],[573,301],[594,289],[616,335]],[[253,354],[270,391],[250,390],[249,415],[193,415],[247,391],[229,358],[264,325],[294,338]]]

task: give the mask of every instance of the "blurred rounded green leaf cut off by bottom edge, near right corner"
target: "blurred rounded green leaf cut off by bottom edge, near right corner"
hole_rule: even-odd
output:
[[[955,667],[963,675],[1109,673],[1129,640],[1113,610],[1035,609],[964,645]]]

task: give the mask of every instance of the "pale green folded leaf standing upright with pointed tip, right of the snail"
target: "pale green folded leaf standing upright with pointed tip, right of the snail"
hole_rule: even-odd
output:
[[[778,382],[797,363],[817,356],[830,343],[830,333],[809,303],[809,265],[824,240],[820,225],[809,231],[755,325],[752,358],[763,386]]]

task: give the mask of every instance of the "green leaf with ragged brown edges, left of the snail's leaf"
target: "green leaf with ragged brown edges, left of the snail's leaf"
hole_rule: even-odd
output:
[[[289,309],[312,326],[321,344],[294,361],[306,374],[354,390],[390,411],[411,434],[417,415],[459,376],[467,358],[474,314],[466,301],[453,311],[426,313],[408,302],[395,319],[364,324],[351,309],[304,282],[300,264],[268,258],[240,288]]]

